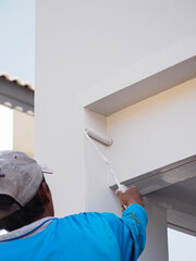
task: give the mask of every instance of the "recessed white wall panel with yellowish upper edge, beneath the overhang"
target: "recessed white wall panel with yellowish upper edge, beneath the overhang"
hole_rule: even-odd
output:
[[[109,158],[121,181],[196,153],[196,78],[107,119]]]

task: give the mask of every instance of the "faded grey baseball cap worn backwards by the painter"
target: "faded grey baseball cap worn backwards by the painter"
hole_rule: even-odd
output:
[[[24,152],[0,151],[0,195],[8,195],[19,203],[0,210],[0,219],[29,202],[39,189],[44,173],[52,174],[52,171]]]

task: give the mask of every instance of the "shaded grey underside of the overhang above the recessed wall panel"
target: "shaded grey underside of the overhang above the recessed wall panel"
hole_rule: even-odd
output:
[[[132,73],[130,72],[130,74]],[[95,100],[84,108],[109,116],[194,77],[196,77],[196,55],[132,83],[130,86],[122,87],[119,91]]]

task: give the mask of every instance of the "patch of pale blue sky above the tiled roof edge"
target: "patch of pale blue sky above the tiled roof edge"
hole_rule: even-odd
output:
[[[35,0],[0,0],[0,72],[35,84]]]

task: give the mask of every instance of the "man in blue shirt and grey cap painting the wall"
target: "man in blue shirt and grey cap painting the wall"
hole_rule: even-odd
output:
[[[122,217],[85,212],[54,217],[49,173],[20,151],[0,151],[1,261],[135,261],[145,248],[147,214],[139,191],[117,196]],[[63,200],[63,199],[62,199]]]

